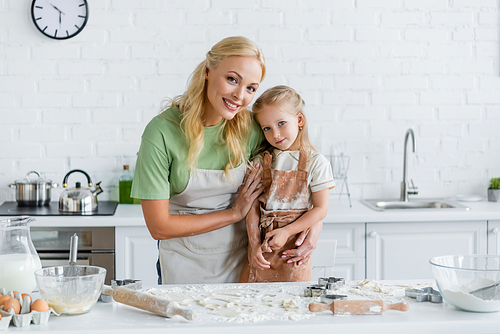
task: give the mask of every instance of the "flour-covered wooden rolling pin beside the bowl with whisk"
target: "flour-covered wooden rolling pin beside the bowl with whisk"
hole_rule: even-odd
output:
[[[101,293],[113,296],[113,299],[119,303],[137,307],[141,310],[146,310],[164,317],[171,318],[174,315],[180,315],[187,320],[196,319],[196,313],[193,310],[181,308],[179,303],[166,298],[153,296],[125,287],[116,287],[113,289],[109,285],[104,285]]]

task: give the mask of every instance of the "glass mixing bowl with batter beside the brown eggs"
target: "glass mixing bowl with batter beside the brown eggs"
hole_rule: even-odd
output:
[[[89,312],[97,302],[106,277],[106,269],[68,265],[35,271],[42,298],[61,315]]]

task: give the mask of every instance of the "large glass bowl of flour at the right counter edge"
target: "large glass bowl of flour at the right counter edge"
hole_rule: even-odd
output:
[[[500,256],[446,255],[429,262],[447,303],[471,312],[500,311],[500,287],[495,285],[500,283]]]

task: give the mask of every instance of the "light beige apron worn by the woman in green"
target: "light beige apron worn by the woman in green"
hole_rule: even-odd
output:
[[[229,171],[197,169],[186,189],[170,198],[170,214],[203,214],[227,209],[236,201],[246,166]],[[163,284],[237,282],[247,255],[245,221],[218,230],[159,243]]]

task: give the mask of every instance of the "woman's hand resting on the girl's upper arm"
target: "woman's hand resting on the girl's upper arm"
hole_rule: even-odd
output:
[[[236,215],[238,221],[245,219],[248,211],[252,207],[253,202],[260,196],[263,187],[258,187],[262,177],[257,175],[259,164],[256,168],[250,168],[245,174],[243,183],[238,190],[238,197],[231,211]]]

